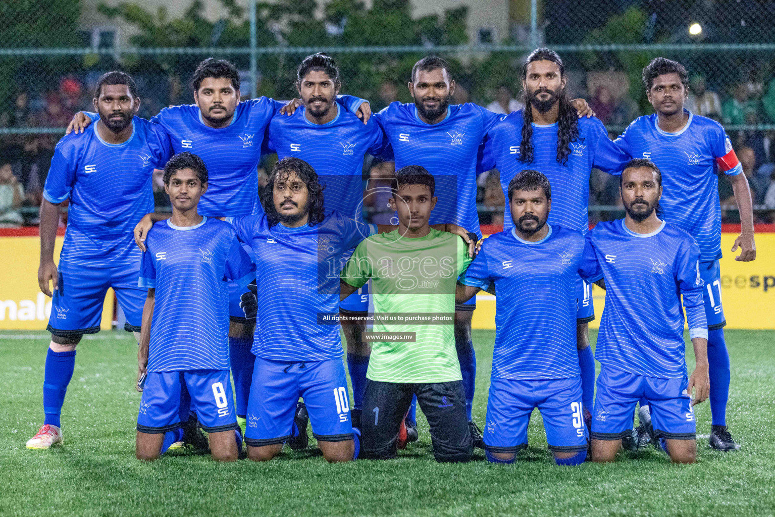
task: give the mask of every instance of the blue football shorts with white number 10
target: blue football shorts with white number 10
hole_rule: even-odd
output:
[[[291,438],[299,397],[307,405],[315,439],[353,439],[350,395],[341,359],[288,363],[257,357],[247,404],[245,442],[258,447]]]

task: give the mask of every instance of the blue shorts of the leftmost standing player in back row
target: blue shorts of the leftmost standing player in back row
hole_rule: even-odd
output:
[[[60,260],[57,269],[59,280],[47,326],[50,333],[62,337],[98,333],[108,288],[113,288],[126,315],[124,329],[140,332],[148,295],[146,288],[137,286],[140,260],[117,267],[76,266]]]

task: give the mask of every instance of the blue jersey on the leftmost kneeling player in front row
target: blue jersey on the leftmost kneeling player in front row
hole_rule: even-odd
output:
[[[148,232],[141,288],[155,289],[148,371],[229,369],[229,288],[245,287],[255,268],[226,222],[196,226],[169,219]]]

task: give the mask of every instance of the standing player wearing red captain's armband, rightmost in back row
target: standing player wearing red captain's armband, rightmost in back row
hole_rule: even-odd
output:
[[[716,450],[739,450],[726,426],[729,353],[724,340],[726,320],[718,266],[722,257],[722,216],[717,167],[727,175],[735,192],[742,233],[735,239],[732,252],[739,247],[741,253],[735,260],[743,262],[756,259],[751,191],[721,124],[684,109],[688,95],[686,69],[680,63],[657,57],[643,69],[643,82],[656,113],[636,119],[616,143],[630,157],[653,160],[664,171],[665,193],[660,205],[665,220],[687,231],[700,246],[711,365],[710,446]]]

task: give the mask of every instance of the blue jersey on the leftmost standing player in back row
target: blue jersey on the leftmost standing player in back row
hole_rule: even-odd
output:
[[[107,143],[97,124],[63,136],[54,148],[43,197],[70,199],[60,260],[91,267],[136,264],[133,229],[153,212],[153,169],[170,157],[167,133],[134,117],[125,143]]]

